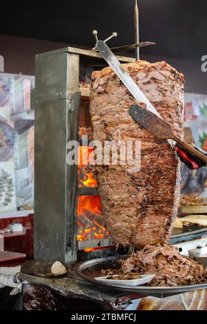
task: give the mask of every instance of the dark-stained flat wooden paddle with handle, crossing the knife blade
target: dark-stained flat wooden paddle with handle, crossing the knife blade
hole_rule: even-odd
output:
[[[139,105],[132,105],[130,108],[130,116],[139,125],[151,134],[159,137],[159,139],[172,139],[173,141],[179,143],[182,148],[201,159],[207,163],[207,156],[196,150],[193,145],[182,141],[177,136],[175,136],[170,124],[166,123],[163,119],[159,118],[157,115],[153,114],[149,110],[140,107]]]

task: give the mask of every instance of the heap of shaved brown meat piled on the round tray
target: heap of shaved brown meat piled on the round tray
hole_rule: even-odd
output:
[[[106,270],[107,275],[155,274],[150,286],[179,286],[207,282],[207,272],[202,265],[178,252],[169,245],[147,245],[133,253],[122,263],[119,270]]]

